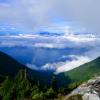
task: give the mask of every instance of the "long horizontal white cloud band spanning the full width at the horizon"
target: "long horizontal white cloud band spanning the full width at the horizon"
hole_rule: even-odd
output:
[[[82,47],[96,47],[100,44],[98,35],[91,34],[64,34],[64,35],[6,35],[0,36],[0,46],[31,46],[37,48],[82,48]]]

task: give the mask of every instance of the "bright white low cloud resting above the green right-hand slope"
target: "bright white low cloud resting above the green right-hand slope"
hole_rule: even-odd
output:
[[[41,69],[54,70],[55,74],[58,74],[61,72],[69,71],[71,69],[79,67],[80,65],[84,63],[91,61],[91,58],[89,58],[88,56],[70,55],[69,57],[72,58],[71,61],[48,63],[42,66]]]

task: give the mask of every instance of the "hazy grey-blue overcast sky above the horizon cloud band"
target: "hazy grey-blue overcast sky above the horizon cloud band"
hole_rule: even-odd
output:
[[[100,33],[100,0],[0,0],[0,30],[34,33],[41,29]]]

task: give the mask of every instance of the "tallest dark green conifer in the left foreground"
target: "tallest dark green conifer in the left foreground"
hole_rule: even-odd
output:
[[[20,70],[15,78],[14,91],[16,91],[17,100],[24,100],[29,97],[31,91],[31,84],[27,78],[26,70]]]

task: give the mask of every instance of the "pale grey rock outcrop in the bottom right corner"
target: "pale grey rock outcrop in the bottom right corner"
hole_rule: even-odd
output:
[[[65,100],[80,100],[76,99],[77,95],[81,95],[83,100],[100,100],[100,77],[93,78],[83,83],[72,91]],[[73,96],[74,98],[71,98]]]

